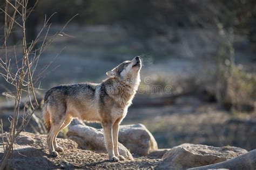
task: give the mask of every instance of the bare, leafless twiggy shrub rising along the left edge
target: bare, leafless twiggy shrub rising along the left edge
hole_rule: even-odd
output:
[[[5,58],[0,59],[0,68],[3,69],[3,73],[0,75],[4,78],[6,82],[11,84],[15,91],[6,92],[4,93],[6,97],[11,97],[15,100],[14,111],[12,112],[12,116],[10,116],[10,128],[9,133],[3,132],[3,122],[1,121],[1,133],[2,133],[2,146],[4,148],[4,155],[1,160],[0,169],[4,169],[8,164],[8,159],[14,150],[15,139],[17,138],[18,134],[21,133],[25,127],[28,125],[31,118],[35,119],[38,123],[39,129],[41,133],[44,133],[46,130],[44,125],[40,119],[34,115],[34,112],[40,107],[39,102],[37,101],[36,90],[39,89],[35,88],[35,84],[42,77],[42,72],[38,75],[35,74],[35,70],[38,65],[38,60],[45,49],[51,44],[51,42],[62,34],[62,31],[65,29],[66,25],[76,16],[72,17],[56,34],[48,37],[49,29],[51,24],[49,24],[50,18],[54,15],[51,15],[49,18],[45,17],[44,25],[39,31],[38,36],[35,40],[31,43],[26,42],[26,29],[25,23],[26,19],[28,19],[30,13],[35,9],[36,4],[31,8],[27,9],[28,0],[15,0],[9,1],[6,0],[5,8],[0,9],[5,15],[5,24],[4,24],[4,43],[2,45],[2,49],[5,49]],[[9,10],[11,8],[11,10]],[[13,47],[14,54],[15,54],[15,66],[16,69],[12,68],[12,60],[8,56],[8,46],[7,41],[9,35],[14,32],[12,29],[14,25],[18,25],[18,29],[22,31],[22,56],[19,59],[16,53],[16,46]],[[42,38],[42,32],[44,29],[47,29],[46,34]],[[42,45],[39,49],[34,49],[36,44],[42,40]],[[51,64],[51,63],[50,63]],[[49,65],[50,65],[49,64]],[[43,69],[43,72],[46,68]],[[36,77],[36,79],[35,79]],[[18,118],[21,110],[21,104],[24,102],[22,101],[22,96],[26,96],[26,100],[24,103],[23,108],[23,116],[22,116],[22,123],[21,126],[17,127],[18,125]],[[4,135],[5,134],[5,135]],[[5,136],[5,137],[4,137]]]

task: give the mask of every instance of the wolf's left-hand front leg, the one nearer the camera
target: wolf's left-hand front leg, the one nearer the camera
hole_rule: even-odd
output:
[[[104,130],[104,138],[106,142],[107,153],[109,154],[109,160],[119,161],[119,159],[114,156],[112,124],[104,124],[103,130]]]

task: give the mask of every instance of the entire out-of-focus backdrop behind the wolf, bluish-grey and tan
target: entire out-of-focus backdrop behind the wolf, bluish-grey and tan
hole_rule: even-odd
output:
[[[144,124],[160,148],[256,147],[255,0],[38,1],[26,22],[28,43],[51,15],[50,29],[43,31],[48,39],[77,16],[38,61],[37,74],[47,68],[35,83],[39,97],[58,84],[100,82],[107,71],[139,55],[142,83],[122,124]],[[0,24],[2,45],[3,12]],[[22,32],[13,31],[7,44],[8,54],[19,58]],[[0,77],[5,130],[13,101],[4,92],[12,90]],[[32,119],[26,131],[38,133],[35,126]]]

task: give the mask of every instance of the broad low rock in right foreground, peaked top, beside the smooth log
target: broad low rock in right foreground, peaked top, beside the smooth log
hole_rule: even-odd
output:
[[[164,161],[156,169],[187,169],[217,164],[247,153],[239,147],[213,147],[207,145],[182,144],[163,155]]]

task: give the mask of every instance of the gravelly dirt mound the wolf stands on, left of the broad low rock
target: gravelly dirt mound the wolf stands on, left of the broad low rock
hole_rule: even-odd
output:
[[[106,153],[81,150],[75,141],[57,138],[58,144],[64,152],[58,157],[51,157],[48,153],[46,135],[22,132],[17,138],[14,157],[9,159],[9,168],[22,169],[52,169],[52,168],[153,168],[161,159],[146,157],[134,158],[119,162],[110,162]],[[0,158],[3,149],[0,150]]]

